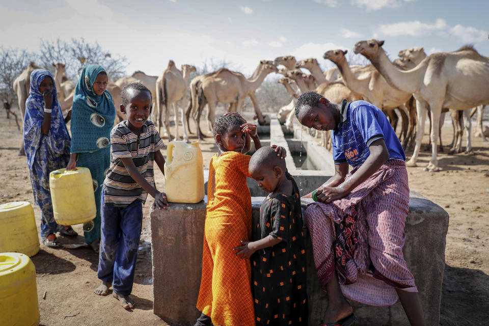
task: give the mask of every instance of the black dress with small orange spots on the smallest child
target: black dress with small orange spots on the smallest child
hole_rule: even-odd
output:
[[[268,195],[253,226],[253,241],[268,235],[282,241],[251,257],[256,325],[307,325],[306,254],[301,198],[295,181],[292,196]]]

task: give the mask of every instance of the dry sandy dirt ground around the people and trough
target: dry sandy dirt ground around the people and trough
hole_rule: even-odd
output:
[[[14,109],[16,110],[16,109]],[[17,111],[18,112],[18,111]],[[17,156],[21,132],[13,119],[0,112],[0,203],[30,202],[40,224],[39,207],[33,203],[29,171],[25,156]],[[193,130],[195,127],[192,125]],[[180,129],[181,131],[182,129]],[[202,130],[206,127],[202,123]],[[445,143],[451,140],[451,124],[442,134]],[[194,135],[195,136],[195,135]],[[195,139],[195,137],[194,137]],[[428,142],[425,134],[424,142]],[[465,144],[465,136],[464,136]],[[439,154],[442,172],[423,171],[428,152],[421,152],[418,168],[408,168],[410,187],[443,207],[450,214],[447,235],[446,268],[443,281],[441,325],[487,324],[489,311],[489,144],[472,138],[473,155],[448,155],[448,147]],[[201,142],[204,166],[208,168],[216,147],[212,138]],[[166,155],[166,150],[162,151]],[[407,153],[408,156],[411,154]],[[155,170],[156,184],[164,189],[164,177]],[[98,255],[89,248],[73,250],[41,250],[32,257],[36,266],[41,325],[166,325],[153,315],[151,276],[151,243],[148,211],[152,200],[144,206],[143,233],[138,254],[132,296],[134,310],[124,310],[112,295],[97,296],[96,270]],[[83,235],[80,225],[74,229]],[[60,237],[64,243],[83,243]],[[486,246],[487,244],[487,246]],[[426,262],[429,264],[429,262]],[[46,292],[45,298],[43,298]]]

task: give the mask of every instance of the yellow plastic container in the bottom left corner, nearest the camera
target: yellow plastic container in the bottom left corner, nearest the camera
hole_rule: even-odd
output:
[[[36,268],[20,253],[0,254],[0,325],[39,325]]]

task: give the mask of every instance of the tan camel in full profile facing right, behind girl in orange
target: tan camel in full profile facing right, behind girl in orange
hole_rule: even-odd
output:
[[[229,105],[229,112],[239,112],[244,99],[249,96],[255,108],[258,123],[261,125],[265,124],[265,119],[258,106],[255,91],[260,87],[269,73],[277,72],[277,67],[269,64],[261,66],[260,73],[253,79],[247,79],[241,73],[233,72],[226,68],[222,68],[203,78],[198,93],[197,133],[200,139],[202,139],[202,131],[200,130],[199,121],[202,109],[206,103],[209,105],[209,117],[213,125],[215,106],[218,102],[231,103]]]

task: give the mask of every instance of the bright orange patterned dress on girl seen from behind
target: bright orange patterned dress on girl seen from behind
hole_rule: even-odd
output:
[[[197,309],[216,326],[255,325],[250,261],[233,250],[251,237],[250,157],[224,152],[210,161]]]

